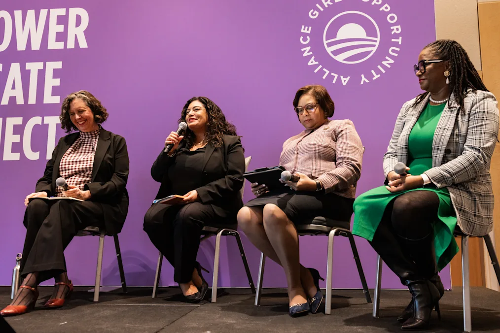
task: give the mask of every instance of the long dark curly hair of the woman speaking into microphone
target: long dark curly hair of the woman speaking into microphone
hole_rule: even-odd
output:
[[[186,102],[182,108],[182,113],[178,121],[179,123],[186,121],[187,107],[194,101],[199,101],[206,109],[206,143],[211,144],[214,148],[218,148],[222,146],[223,135],[237,135],[236,127],[225,119],[222,110],[220,110],[220,108],[209,98],[203,96],[192,97]],[[187,147],[192,147],[194,144],[194,133],[189,127],[186,128],[182,141],[185,141]]]

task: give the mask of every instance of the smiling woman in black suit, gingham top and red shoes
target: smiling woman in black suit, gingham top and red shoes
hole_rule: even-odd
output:
[[[107,116],[106,108],[85,90],[62,102],[61,127],[77,132],[59,140],[35,192],[24,200],[27,231],[20,268],[24,281],[2,316],[32,309],[38,284],[51,278],[56,284],[44,307],[62,307],[73,289],[63,251],[76,232],[89,226],[104,228],[110,235],[121,231],[128,210],[128,153],[124,138],[100,126]],[[55,185],[58,177],[65,178],[67,191]],[[43,200],[47,197],[79,201]]]

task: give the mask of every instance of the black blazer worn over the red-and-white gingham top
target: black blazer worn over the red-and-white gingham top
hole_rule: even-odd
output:
[[[59,139],[47,162],[43,177],[36,182],[36,192],[55,195],[55,180],[59,177],[59,163],[62,155],[80,136],[71,133]],[[128,152],[125,139],[101,128],[95,149],[90,183],[84,190],[89,190],[90,201],[102,204],[104,226],[109,235],[121,231],[128,212],[128,193],[125,185],[128,178]]]

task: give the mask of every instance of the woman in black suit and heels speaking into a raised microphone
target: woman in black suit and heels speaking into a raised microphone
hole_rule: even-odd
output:
[[[174,267],[173,280],[188,302],[199,302],[208,284],[196,262],[201,229],[212,222],[234,223],[243,206],[239,190],[245,168],[236,129],[206,97],[189,99],[179,119],[187,123],[183,136],[171,132],[151,167],[161,183],[156,199],[184,195],[180,205],[152,205],[144,216],[144,231]]]

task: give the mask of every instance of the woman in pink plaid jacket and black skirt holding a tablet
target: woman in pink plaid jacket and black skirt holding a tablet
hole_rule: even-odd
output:
[[[250,242],[283,267],[288,286],[288,314],[315,314],[323,294],[317,270],[300,265],[295,224],[324,216],[349,221],[355,184],[361,174],[363,147],[352,121],[329,120],[334,104],[321,85],[298,89],[293,107],[304,130],[283,143],[279,164],[300,177],[289,189],[268,191],[251,184],[257,198],[237,215]]]

